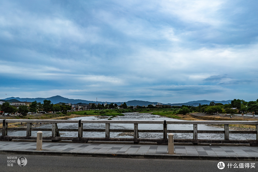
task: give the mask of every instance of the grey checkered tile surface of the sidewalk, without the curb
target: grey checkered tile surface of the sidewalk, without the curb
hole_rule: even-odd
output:
[[[43,142],[43,151],[167,154],[167,145]],[[0,150],[36,150],[36,142],[0,141]],[[175,145],[177,155],[257,156],[256,146]]]

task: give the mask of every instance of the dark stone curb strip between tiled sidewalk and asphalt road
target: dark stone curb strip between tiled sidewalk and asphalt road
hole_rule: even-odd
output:
[[[256,156],[224,156],[224,155],[176,155],[176,154],[132,154],[132,153],[100,153],[100,152],[67,152],[67,151],[26,151],[0,150],[0,154],[48,155],[74,157],[107,157],[107,158],[146,158],[146,159],[182,159],[182,160],[224,160],[224,161],[258,161]]]

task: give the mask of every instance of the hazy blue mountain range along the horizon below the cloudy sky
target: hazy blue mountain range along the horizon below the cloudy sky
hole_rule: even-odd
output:
[[[33,101],[37,101],[37,102],[41,102],[43,103],[44,100],[50,100],[53,104],[57,104],[57,103],[71,103],[71,104],[77,104],[77,103],[96,103],[96,101],[88,101],[88,100],[81,100],[81,99],[68,99],[62,96],[53,96],[53,97],[49,97],[49,98],[20,98],[20,97],[9,97],[3,100],[8,100],[9,102],[15,102],[15,101],[21,101],[21,102],[33,102]],[[165,105],[172,105],[172,106],[182,106],[182,105],[188,105],[188,106],[198,106],[199,104],[203,105],[203,104],[209,104],[210,102],[215,102],[215,103],[222,103],[222,104],[228,104],[231,102],[231,100],[227,100],[227,101],[209,101],[209,100],[198,100],[198,101],[191,101],[191,102],[186,102],[186,103],[167,103]],[[102,104],[105,102],[99,102],[98,103]],[[124,102],[107,102],[108,104],[110,103],[116,103],[117,105],[120,105],[121,103],[123,104]],[[149,104],[157,104],[158,102],[148,102],[148,101],[141,101],[141,100],[131,100],[131,101],[127,101],[125,102],[127,105],[132,105],[132,106],[148,106]],[[164,104],[164,103],[161,103]]]

